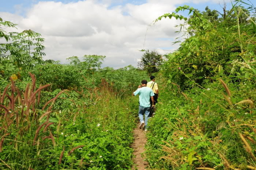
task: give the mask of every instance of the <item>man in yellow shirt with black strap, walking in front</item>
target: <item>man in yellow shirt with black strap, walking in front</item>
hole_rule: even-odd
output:
[[[151,106],[151,111],[150,111],[150,117],[153,116],[153,114],[155,114],[155,107],[152,107],[153,104],[154,106],[156,105],[157,102],[157,99],[158,99],[158,85],[157,83],[155,82],[155,76],[151,76],[150,77],[151,81],[147,83],[147,87],[151,88],[153,90],[153,93],[154,93],[154,101],[153,100],[150,100],[150,106]]]

